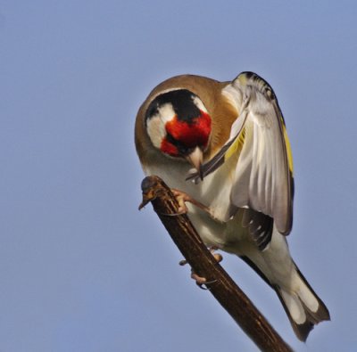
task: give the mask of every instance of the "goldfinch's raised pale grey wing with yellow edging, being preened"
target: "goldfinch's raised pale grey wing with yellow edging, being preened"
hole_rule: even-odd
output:
[[[203,165],[203,176],[236,155],[230,215],[238,209],[253,209],[271,217],[279,233],[288,234],[293,224],[293,161],[275,94],[265,80],[252,72],[241,73],[226,86],[224,94],[237,104],[239,116],[228,142]],[[251,218],[253,222],[262,217]],[[247,225],[253,225],[255,231],[263,227],[259,221]]]

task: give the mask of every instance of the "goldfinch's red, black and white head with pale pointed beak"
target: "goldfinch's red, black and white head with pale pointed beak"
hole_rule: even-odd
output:
[[[211,117],[201,99],[187,89],[157,95],[145,114],[154,147],[171,158],[186,159],[200,173],[211,135]]]

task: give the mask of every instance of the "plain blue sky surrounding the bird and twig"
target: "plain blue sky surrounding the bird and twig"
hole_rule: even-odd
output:
[[[0,351],[256,351],[180,267],[151,205],[137,109],[165,78],[275,90],[295,160],[296,263],[332,321],[298,341],[240,259],[222,265],[296,351],[357,350],[353,1],[0,1]]]

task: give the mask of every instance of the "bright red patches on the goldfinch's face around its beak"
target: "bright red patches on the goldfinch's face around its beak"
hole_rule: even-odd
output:
[[[188,123],[185,120],[178,119],[175,115],[173,119],[166,123],[165,127],[167,133],[185,148],[190,149],[199,146],[204,149],[211,133],[211,118],[206,112],[201,111],[201,115]],[[172,156],[179,155],[178,148],[173,143],[168,142],[167,139],[162,141],[161,149]]]

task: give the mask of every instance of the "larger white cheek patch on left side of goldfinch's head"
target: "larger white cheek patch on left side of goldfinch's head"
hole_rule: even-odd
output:
[[[158,112],[146,121],[147,134],[154,146],[160,149],[162,140],[166,137],[165,125],[175,116],[175,111],[170,103],[163,104],[158,108]]]

